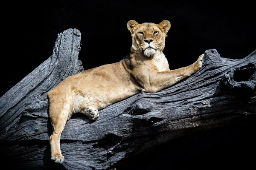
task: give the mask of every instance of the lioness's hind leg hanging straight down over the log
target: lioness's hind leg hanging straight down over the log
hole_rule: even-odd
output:
[[[52,124],[52,135],[49,138],[51,146],[51,159],[57,163],[63,163],[64,156],[61,154],[60,139],[67,120],[72,113],[71,105],[67,102],[58,101],[54,96],[49,97],[49,117]]]

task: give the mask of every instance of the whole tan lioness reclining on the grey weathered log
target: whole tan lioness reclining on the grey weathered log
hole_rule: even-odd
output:
[[[189,77],[202,66],[201,55],[187,67],[170,70],[163,54],[166,34],[171,24],[127,23],[131,32],[131,52],[119,62],[102,65],[67,77],[49,91],[51,159],[63,163],[60,138],[67,120],[73,113],[84,113],[96,120],[99,110],[141,91],[157,92]]]

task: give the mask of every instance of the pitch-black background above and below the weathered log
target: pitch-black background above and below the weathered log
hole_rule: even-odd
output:
[[[0,96],[50,57],[57,34],[68,28],[81,31],[79,59],[84,69],[117,62],[129,53],[128,20],[171,22],[164,49],[171,69],[192,64],[211,48],[217,49],[221,57],[232,59],[244,58],[256,49],[255,7],[246,1],[46,0],[9,3],[2,8],[8,12],[2,12]],[[196,134],[129,159],[120,167],[134,165],[131,161],[136,160],[142,161],[139,169],[161,165],[163,169],[179,169],[198,164],[218,167],[219,163],[224,167],[254,166],[255,156],[249,156],[256,151],[251,134],[254,129],[253,123],[240,122]],[[184,149],[175,150],[170,145]],[[153,159],[143,164],[146,156]]]

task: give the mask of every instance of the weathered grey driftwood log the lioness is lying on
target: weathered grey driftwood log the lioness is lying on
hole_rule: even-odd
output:
[[[154,94],[140,93],[100,111],[96,121],[74,115],[61,135],[64,163],[50,160],[47,92],[83,70],[81,33],[58,34],[52,56],[0,98],[3,161],[17,169],[112,169],[133,153],[219,127],[255,119],[256,51],[244,59],[205,51],[200,71]]]

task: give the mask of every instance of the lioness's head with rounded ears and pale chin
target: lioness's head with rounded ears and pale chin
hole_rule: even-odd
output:
[[[167,20],[160,24],[139,24],[135,20],[128,21],[127,28],[131,32],[132,48],[142,52],[145,57],[153,57],[157,51],[163,51],[170,27],[171,24]]]

